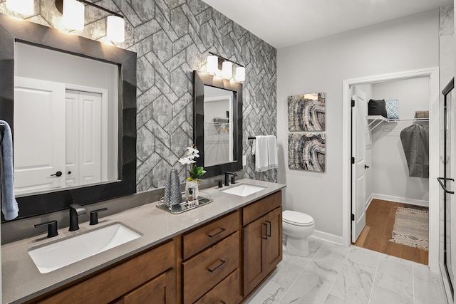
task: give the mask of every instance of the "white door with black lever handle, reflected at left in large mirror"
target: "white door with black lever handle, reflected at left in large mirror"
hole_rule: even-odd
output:
[[[65,186],[64,100],[63,83],[14,78],[16,195]]]

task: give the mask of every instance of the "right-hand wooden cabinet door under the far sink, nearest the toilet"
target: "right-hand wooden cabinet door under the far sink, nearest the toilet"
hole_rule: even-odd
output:
[[[282,208],[266,214],[267,236],[264,240],[264,272],[270,273],[282,259]]]

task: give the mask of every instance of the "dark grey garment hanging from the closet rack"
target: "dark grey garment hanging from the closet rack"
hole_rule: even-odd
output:
[[[400,131],[408,176],[429,178],[429,126],[415,123]]]

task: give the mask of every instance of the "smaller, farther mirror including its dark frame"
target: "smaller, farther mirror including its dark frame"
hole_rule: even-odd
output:
[[[242,169],[242,83],[193,71],[193,109],[204,177]]]

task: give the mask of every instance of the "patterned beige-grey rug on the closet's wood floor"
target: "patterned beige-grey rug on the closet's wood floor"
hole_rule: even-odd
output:
[[[398,207],[390,241],[429,250],[429,212]]]

